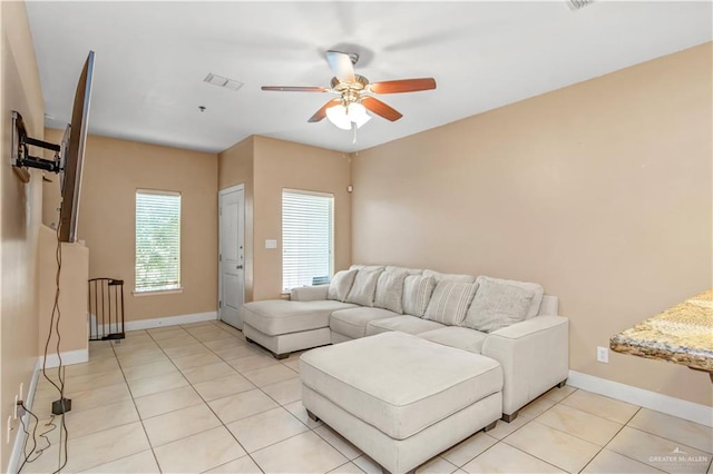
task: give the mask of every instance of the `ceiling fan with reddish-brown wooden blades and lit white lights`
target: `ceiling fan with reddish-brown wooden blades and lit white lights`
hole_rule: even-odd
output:
[[[263,86],[262,90],[335,93],[339,98],[326,102],[307,121],[318,122],[326,117],[339,128],[350,130],[361,127],[371,119],[367,110],[391,121],[403,117],[398,110],[377,99],[372,93],[416,92],[436,89],[433,78],[369,82],[365,77],[354,73],[354,65],[358,60],[359,55],[354,52],[330,50],[326,51],[326,61],[334,73],[331,87]]]

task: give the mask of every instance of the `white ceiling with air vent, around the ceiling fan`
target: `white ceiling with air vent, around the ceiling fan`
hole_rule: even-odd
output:
[[[27,3],[46,124],[64,128],[96,51],[90,134],[211,152],[262,135],[356,151],[712,39],[710,1]],[[324,51],[361,55],[372,82],[433,77],[437,90],[382,95],[403,113],[352,134],[307,119],[329,93]],[[203,82],[208,72],[244,86]],[[198,107],[207,108],[199,112]]]

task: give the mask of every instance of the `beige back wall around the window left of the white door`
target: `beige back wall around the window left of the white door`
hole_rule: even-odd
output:
[[[47,130],[49,141],[60,130]],[[183,292],[134,296],[136,190],[180,192]],[[124,279],[126,320],[217,308],[217,156],[89,136],[78,238],[89,248],[89,277]]]

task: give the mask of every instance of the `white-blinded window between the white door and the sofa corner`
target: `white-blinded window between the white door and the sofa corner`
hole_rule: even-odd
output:
[[[282,289],[315,285],[332,275],[334,197],[282,191]]]

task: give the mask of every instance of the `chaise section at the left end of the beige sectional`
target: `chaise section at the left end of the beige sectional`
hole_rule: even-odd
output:
[[[243,334],[276,358],[283,358],[294,350],[330,344],[332,312],[355,306],[332,299],[251,302],[241,308]]]

